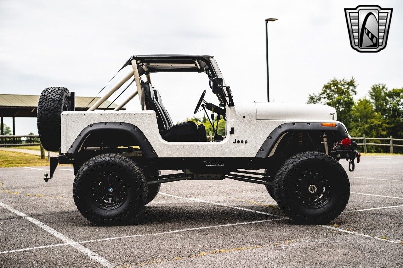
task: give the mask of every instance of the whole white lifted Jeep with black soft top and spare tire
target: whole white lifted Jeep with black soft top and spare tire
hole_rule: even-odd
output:
[[[74,94],[63,87],[46,88],[39,99],[41,142],[60,152],[50,158],[50,177],[44,179],[52,178],[58,163],[72,163],[74,201],[89,221],[126,223],[153,200],[161,183],[184,179],[263,184],[281,210],[302,224],[332,221],[346,207],[350,184],[338,161],[347,159],[353,171],[360,154],[334,108],[236,103],[212,56],[135,55],[120,70],[126,66],[127,76],[88,111],[75,111]],[[152,87],[153,72],[207,74],[218,105],[204,100],[205,90],[195,113],[200,107],[206,112],[212,141],[204,125],[172,123]],[[136,91],[113,111],[96,110],[133,76]],[[142,110],[121,110],[136,95]],[[225,135],[217,132],[220,118]],[[182,172],[161,175],[161,169]]]

